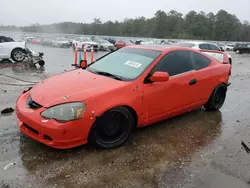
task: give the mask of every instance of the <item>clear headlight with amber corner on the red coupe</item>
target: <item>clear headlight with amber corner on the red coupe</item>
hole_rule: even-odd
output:
[[[64,103],[48,108],[41,113],[46,119],[55,119],[59,122],[67,122],[80,119],[85,111],[86,105],[81,102]]]

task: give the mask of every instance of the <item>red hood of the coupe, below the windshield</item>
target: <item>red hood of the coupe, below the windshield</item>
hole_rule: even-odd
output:
[[[44,107],[84,101],[125,86],[128,82],[77,69],[52,76],[30,90],[32,100]]]

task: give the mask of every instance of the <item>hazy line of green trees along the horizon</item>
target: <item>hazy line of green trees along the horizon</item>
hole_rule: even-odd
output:
[[[0,26],[0,30],[161,39],[250,41],[249,22],[242,23],[236,15],[225,10],[219,10],[217,14],[190,11],[186,15],[175,10],[168,13],[158,10],[153,18],[127,18],[122,22],[102,22],[100,18],[95,18],[92,23],[62,22],[24,27]]]

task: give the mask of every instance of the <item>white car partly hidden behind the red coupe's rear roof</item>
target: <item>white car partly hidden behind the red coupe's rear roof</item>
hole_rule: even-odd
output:
[[[222,51],[221,48],[217,44],[209,43],[209,42],[205,42],[205,41],[186,41],[186,42],[182,42],[182,43],[177,43],[177,45],[186,46],[186,47],[194,48],[197,50]],[[229,58],[230,64],[232,65],[232,57],[230,54],[228,54],[228,58]]]

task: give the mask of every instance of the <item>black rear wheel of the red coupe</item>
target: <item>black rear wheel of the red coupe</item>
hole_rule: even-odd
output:
[[[208,102],[204,105],[204,108],[208,111],[219,110],[226,99],[227,86],[225,84],[220,84],[212,92]]]

